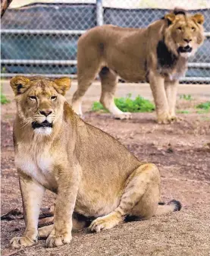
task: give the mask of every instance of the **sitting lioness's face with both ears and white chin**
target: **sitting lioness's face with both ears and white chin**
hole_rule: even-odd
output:
[[[30,125],[36,134],[51,134],[55,122],[62,116],[63,95],[70,85],[67,77],[54,81],[43,77],[13,77],[11,87],[23,126]]]

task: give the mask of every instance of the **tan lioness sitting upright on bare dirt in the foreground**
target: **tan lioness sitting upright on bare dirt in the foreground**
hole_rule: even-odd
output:
[[[49,247],[71,242],[71,230],[86,225],[77,215],[91,218],[89,229],[100,232],[125,218],[146,220],[180,210],[178,201],[158,204],[160,174],[154,164],[141,163],[74,113],[64,98],[70,86],[67,77],[11,79],[15,163],[27,226],[22,237],[11,239],[13,248],[34,245],[39,236],[48,237]],[[45,189],[58,194],[54,225],[38,230]]]

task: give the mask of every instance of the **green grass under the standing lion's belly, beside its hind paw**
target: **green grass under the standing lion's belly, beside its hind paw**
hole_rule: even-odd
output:
[[[132,100],[130,93],[126,97],[115,98],[114,103],[122,112],[152,112],[155,110],[154,104],[149,100],[141,96],[136,96],[136,99]],[[100,110],[108,112],[101,103],[95,102],[92,104],[92,111]]]

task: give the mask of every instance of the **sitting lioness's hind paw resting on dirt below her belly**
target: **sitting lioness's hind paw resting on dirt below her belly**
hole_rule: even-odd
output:
[[[103,216],[93,220],[89,226],[92,232],[100,232],[101,230],[111,229],[121,223],[122,219],[117,216]]]

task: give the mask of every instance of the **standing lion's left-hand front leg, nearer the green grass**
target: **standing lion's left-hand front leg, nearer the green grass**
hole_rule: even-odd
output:
[[[165,92],[165,78],[161,77],[160,74],[150,72],[149,84],[155,100],[155,109],[158,119],[157,121],[159,124],[168,124],[171,119],[168,109],[168,100]]]

